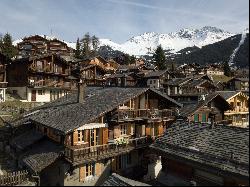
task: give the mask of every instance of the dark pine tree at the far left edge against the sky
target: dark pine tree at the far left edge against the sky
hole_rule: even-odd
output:
[[[12,58],[17,55],[17,49],[12,45],[12,37],[9,33],[6,33],[2,39],[0,39],[1,52],[7,57]]]

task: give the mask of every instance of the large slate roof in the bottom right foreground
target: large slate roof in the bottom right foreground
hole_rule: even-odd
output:
[[[249,178],[249,129],[186,122],[167,129],[150,148],[178,161]]]

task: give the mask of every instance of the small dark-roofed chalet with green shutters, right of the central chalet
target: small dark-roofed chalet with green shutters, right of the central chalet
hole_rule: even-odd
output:
[[[230,110],[229,103],[218,93],[203,95],[197,104],[181,108],[179,115],[191,122],[222,123],[224,112]]]

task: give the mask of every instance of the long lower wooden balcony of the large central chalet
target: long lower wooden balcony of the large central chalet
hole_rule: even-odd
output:
[[[65,157],[73,164],[79,164],[89,161],[97,161],[110,158],[130,152],[134,149],[140,149],[149,146],[154,137],[141,137],[128,140],[125,144],[106,144],[93,147],[74,149],[73,147],[65,148]]]

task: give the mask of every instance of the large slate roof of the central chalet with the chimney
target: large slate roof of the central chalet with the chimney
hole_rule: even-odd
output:
[[[22,125],[31,121],[53,128],[61,134],[67,134],[74,129],[91,123],[103,114],[112,111],[119,105],[128,102],[149,88],[122,88],[122,87],[87,87],[84,103],[77,102],[77,94],[64,96],[51,103],[25,113],[19,119],[12,121],[12,126]],[[158,93],[155,90],[152,90]],[[177,104],[173,99],[162,95]]]

